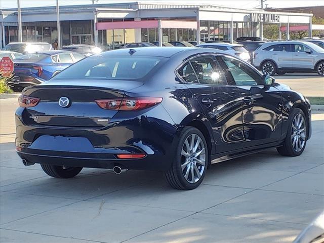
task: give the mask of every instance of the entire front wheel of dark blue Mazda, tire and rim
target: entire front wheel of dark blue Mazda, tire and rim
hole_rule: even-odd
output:
[[[277,151],[284,156],[298,156],[303,153],[306,146],[308,125],[304,112],[295,108],[284,144]]]

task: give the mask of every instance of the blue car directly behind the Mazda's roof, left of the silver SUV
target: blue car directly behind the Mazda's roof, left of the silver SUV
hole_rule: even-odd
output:
[[[228,43],[206,43],[201,44],[196,47],[201,48],[213,48],[218,49],[222,51],[226,51],[228,53],[234,54],[236,56],[239,56],[242,60],[246,62],[250,62],[250,54],[249,52],[243,47],[243,45],[239,44],[228,44]]]

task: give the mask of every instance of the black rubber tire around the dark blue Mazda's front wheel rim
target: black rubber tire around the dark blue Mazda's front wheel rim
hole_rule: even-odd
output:
[[[293,135],[292,135],[293,121],[294,121],[294,118],[298,114],[301,114],[303,116],[303,118],[304,118],[304,121],[305,121],[305,143],[304,143],[304,145],[303,145],[303,147],[302,147],[302,149],[300,151],[296,151],[295,148],[293,147]],[[282,146],[277,148],[278,153],[281,154],[281,155],[284,155],[284,156],[299,156],[300,154],[302,154],[305,147],[306,147],[308,127],[309,126],[307,124],[307,119],[306,119],[306,116],[305,116],[304,112],[299,108],[294,108],[292,110],[292,113],[291,113],[291,120],[289,122],[287,136],[286,136]]]

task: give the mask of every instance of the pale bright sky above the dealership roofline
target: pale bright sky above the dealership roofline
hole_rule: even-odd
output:
[[[98,0],[98,4],[108,3],[125,3],[125,2],[137,2],[137,0]],[[144,2],[142,0],[142,2]],[[148,1],[148,2],[165,2],[165,3],[184,3],[184,4],[215,4],[227,7],[236,8],[259,8],[260,0],[160,0],[160,1]],[[59,5],[84,5],[92,4],[92,0],[59,0]],[[55,6],[56,0],[20,0],[20,7],[48,7]],[[305,7],[305,6],[324,6],[323,0],[266,0],[264,7],[268,8],[289,8],[289,7]],[[0,0],[0,8],[17,8],[17,0]]]

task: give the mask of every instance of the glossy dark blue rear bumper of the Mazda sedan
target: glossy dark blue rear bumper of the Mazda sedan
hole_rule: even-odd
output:
[[[16,149],[30,163],[159,171],[172,164],[178,130],[161,105],[132,119],[117,112],[104,128],[26,125],[24,110],[16,111]],[[145,157],[120,159],[117,154]]]

